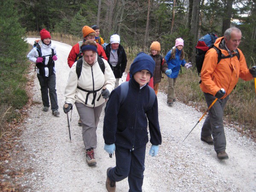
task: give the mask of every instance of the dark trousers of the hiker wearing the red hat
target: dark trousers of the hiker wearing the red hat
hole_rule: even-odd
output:
[[[56,93],[56,76],[52,74],[49,77],[44,77],[37,74],[40,86],[41,86],[41,94],[42,94],[42,101],[44,107],[49,107],[49,96],[51,101],[51,109],[55,111],[58,109],[58,100],[57,100],[57,93]],[[49,96],[48,96],[48,89],[49,89]]]

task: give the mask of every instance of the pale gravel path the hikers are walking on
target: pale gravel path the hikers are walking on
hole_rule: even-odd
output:
[[[35,38],[28,38],[33,43]],[[70,123],[71,139],[67,128],[67,116],[62,111],[64,89],[70,68],[67,56],[71,46],[52,41],[57,47],[57,94],[60,115],[41,111],[42,105],[29,109],[29,117],[21,127],[17,150],[11,163],[17,169],[25,169],[24,177],[17,178],[24,191],[33,192],[106,192],[106,170],[115,165],[103,150],[103,116],[98,125],[97,165],[89,167],[85,160],[79,115],[74,106]],[[32,74],[35,72],[31,72]],[[35,76],[35,75],[34,75]],[[125,79],[125,76],[123,77]],[[38,79],[35,76],[34,101],[41,103]],[[163,142],[157,157],[146,155],[144,192],[172,191],[256,191],[256,144],[237,131],[225,127],[229,160],[218,160],[212,145],[200,140],[204,119],[183,142],[202,113],[194,108],[175,102],[166,105],[166,94],[158,93],[159,121]],[[70,114],[69,114],[70,115]],[[148,154],[150,144],[147,145]],[[1,181],[4,181],[2,179]],[[127,192],[128,180],[116,183],[117,192]]]

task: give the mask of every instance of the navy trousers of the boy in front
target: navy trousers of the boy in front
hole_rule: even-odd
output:
[[[116,145],[116,167],[108,172],[112,181],[128,177],[129,192],[142,192],[146,145],[133,151]]]

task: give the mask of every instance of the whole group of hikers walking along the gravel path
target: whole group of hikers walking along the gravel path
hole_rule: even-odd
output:
[[[64,113],[69,113],[76,105],[87,164],[95,166],[96,129],[106,102],[104,149],[110,157],[114,153],[116,157],[116,166],[106,169],[106,188],[114,192],[116,182],[128,177],[129,191],[142,191],[146,144],[150,141],[149,154],[154,157],[162,142],[157,102],[162,73],[168,77],[167,105],[172,107],[180,67],[192,67],[184,59],[184,41],[177,38],[175,46],[165,57],[160,55],[160,43],[152,42],[149,54],[140,52],[134,58],[127,75],[128,82],[119,85],[127,65],[120,36],[111,35],[110,43],[106,45],[99,36],[99,26],[84,26],[82,33],[83,40],[72,47],[67,59],[70,73],[64,94]],[[27,58],[35,62],[38,68],[44,105],[42,110],[48,111],[50,97],[52,114],[57,116],[60,113],[55,89],[56,50],[51,46],[51,36],[47,30],[42,29],[40,36],[41,40]],[[248,69],[244,55],[238,49],[240,41],[241,31],[238,28],[227,29],[224,37],[213,42],[215,48],[210,47],[206,52],[200,71],[200,88],[209,107],[201,140],[214,145],[218,159],[228,159],[223,110],[229,95],[239,78],[245,81],[256,78],[256,67]]]

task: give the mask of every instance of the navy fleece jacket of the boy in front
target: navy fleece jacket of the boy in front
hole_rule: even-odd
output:
[[[111,92],[105,108],[103,125],[105,144],[115,143],[130,150],[139,148],[148,143],[148,126],[150,143],[152,145],[162,143],[157,96],[153,107],[145,111],[149,102],[149,91],[148,85],[140,89],[140,85],[131,78],[128,96],[122,105],[120,105],[120,86]]]

